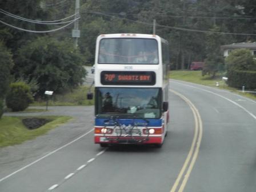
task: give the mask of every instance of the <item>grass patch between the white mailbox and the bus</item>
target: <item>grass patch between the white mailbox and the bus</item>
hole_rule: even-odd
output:
[[[89,92],[88,86],[79,86],[71,92],[63,94],[53,94],[49,97],[49,106],[88,106],[94,105],[94,100],[87,100],[86,94]],[[92,87],[91,91],[94,91]],[[46,101],[40,100],[31,103],[30,106],[46,106]]]

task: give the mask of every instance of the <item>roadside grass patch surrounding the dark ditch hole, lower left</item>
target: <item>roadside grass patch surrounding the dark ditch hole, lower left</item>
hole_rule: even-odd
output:
[[[67,116],[39,116],[38,118],[46,118],[51,121],[38,129],[29,130],[22,123],[22,119],[24,118],[29,117],[3,116],[0,119],[0,147],[17,145],[24,141],[34,139],[71,119],[71,117]]]

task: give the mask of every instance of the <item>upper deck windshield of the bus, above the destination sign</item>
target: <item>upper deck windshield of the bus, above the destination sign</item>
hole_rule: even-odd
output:
[[[99,43],[98,63],[158,64],[155,39],[105,38]]]

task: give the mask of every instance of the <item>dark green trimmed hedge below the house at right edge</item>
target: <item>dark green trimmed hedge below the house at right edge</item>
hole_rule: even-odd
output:
[[[227,71],[227,85],[241,89],[245,86],[246,89],[256,89],[256,71]]]

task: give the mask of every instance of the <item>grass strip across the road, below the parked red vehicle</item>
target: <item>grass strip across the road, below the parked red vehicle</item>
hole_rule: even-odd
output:
[[[229,87],[222,80],[223,74],[217,74],[214,79],[211,79],[208,75],[205,77],[202,76],[202,71],[182,71],[182,70],[174,70],[170,72],[171,79],[177,79],[181,81],[187,81],[191,83],[197,83],[200,85],[206,85],[211,87],[216,87],[216,82],[219,82],[219,89],[226,89],[236,94],[256,99],[256,95],[250,93],[242,93],[241,90],[235,89],[233,87]]]

